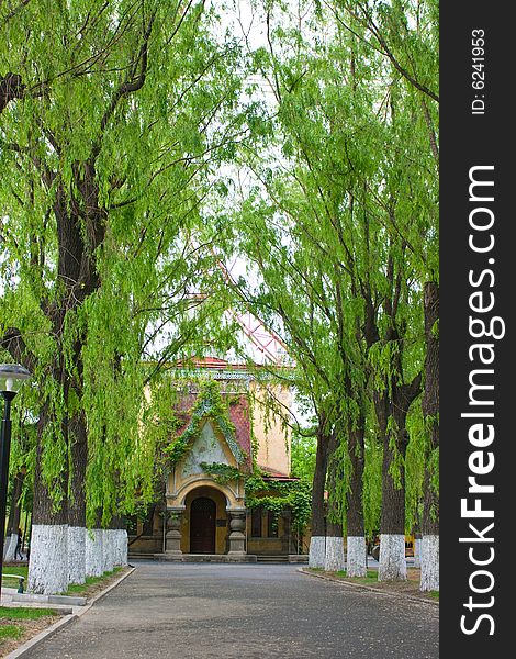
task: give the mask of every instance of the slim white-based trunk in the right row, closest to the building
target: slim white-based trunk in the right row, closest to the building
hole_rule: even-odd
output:
[[[325,432],[325,417],[319,416],[317,428],[317,451],[312,485],[312,523],[309,550],[309,566],[324,568],[326,552],[326,521],[324,514],[324,490],[326,484],[328,437]]]

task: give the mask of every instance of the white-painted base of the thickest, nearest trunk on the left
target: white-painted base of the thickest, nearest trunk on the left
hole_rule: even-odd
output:
[[[27,591],[56,595],[68,589],[68,525],[34,524]]]

